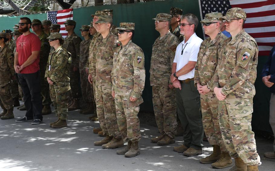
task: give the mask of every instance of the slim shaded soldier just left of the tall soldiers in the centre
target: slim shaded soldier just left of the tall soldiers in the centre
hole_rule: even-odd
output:
[[[90,27],[88,25],[82,25],[79,29],[81,31],[81,36],[84,40],[80,43],[79,52],[79,73],[80,73],[80,86],[82,92],[82,98],[86,102],[86,109],[82,111],[83,114],[93,113],[94,106],[92,103],[91,87],[88,81],[88,74],[86,73],[86,64],[89,58],[89,45],[91,43],[90,37]]]

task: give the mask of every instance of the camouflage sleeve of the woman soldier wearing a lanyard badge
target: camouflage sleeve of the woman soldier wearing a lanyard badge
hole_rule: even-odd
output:
[[[56,67],[53,68],[52,75],[50,77],[53,82],[59,82],[60,78],[62,78],[64,72],[66,71],[66,65],[68,62],[68,59],[70,58],[69,54],[67,52],[59,52],[56,62]]]

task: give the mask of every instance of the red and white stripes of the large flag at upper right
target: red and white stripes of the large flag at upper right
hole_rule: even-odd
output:
[[[257,42],[259,56],[268,56],[275,45],[275,0],[229,0],[232,8],[247,13],[244,30]]]

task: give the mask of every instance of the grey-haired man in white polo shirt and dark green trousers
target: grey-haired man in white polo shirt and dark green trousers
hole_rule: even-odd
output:
[[[202,115],[200,112],[200,96],[194,86],[194,73],[199,47],[202,42],[195,31],[198,18],[194,14],[183,15],[180,21],[180,34],[185,36],[176,49],[170,76],[176,88],[177,112],[184,129],[184,143],[174,147],[174,151],[185,156],[202,154]]]

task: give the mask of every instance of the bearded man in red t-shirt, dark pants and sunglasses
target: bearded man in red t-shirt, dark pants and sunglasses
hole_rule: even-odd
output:
[[[33,121],[31,124],[42,122],[42,98],[40,94],[39,51],[41,42],[30,32],[31,20],[28,17],[20,18],[19,32],[23,33],[16,40],[14,69],[24,94],[26,115],[16,122]]]

